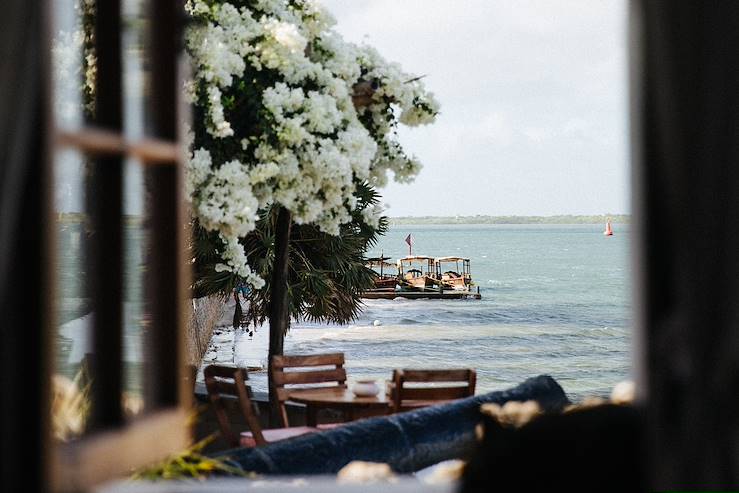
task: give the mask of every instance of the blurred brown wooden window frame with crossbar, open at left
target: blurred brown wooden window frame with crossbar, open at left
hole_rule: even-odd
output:
[[[47,15],[51,6],[47,3]],[[92,187],[104,200],[90,212],[91,278],[95,317],[92,416],[80,440],[55,447],[52,484],[60,491],[85,491],[94,485],[162,459],[191,443],[188,409],[191,378],[186,370],[184,301],[190,275],[186,261],[186,207],[182,197],[183,162],[179,122],[185,116],[179,92],[183,6],[177,0],[148,2],[147,54],[150,104],[147,137],[123,135],[121,0],[97,3],[96,116],[76,131],[55,129],[52,153],[71,149],[93,159]],[[145,339],[146,412],[126,422],[123,389],[123,163],[135,158],[144,167],[154,200],[147,206],[149,248],[145,300],[150,325]],[[104,252],[104,255],[102,254]],[[48,252],[51,258],[53,251]]]

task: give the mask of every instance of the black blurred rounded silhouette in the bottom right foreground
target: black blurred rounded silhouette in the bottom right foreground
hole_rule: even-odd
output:
[[[637,409],[611,404],[518,429],[484,415],[461,491],[644,491],[641,423]]]

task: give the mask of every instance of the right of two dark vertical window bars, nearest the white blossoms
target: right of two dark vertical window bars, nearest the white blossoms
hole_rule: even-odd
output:
[[[157,108],[148,115],[147,131],[164,141],[177,140],[182,5],[177,0],[152,2],[149,7],[151,53],[150,98]],[[188,274],[184,252],[182,169],[176,163],[147,166],[148,208],[146,296],[151,325],[147,333],[147,405],[151,408],[186,404],[182,302]]]

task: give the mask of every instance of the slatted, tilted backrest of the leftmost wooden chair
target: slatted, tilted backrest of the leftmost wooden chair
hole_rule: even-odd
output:
[[[244,368],[231,366],[208,365],[203,370],[205,376],[205,387],[208,390],[208,398],[213,406],[213,411],[221,428],[223,438],[232,447],[239,446],[239,434],[231,428],[231,422],[226,413],[224,398],[235,397],[238,401],[241,414],[244,416],[249,430],[254,436],[257,445],[264,445],[267,441],[262,434],[262,426],[259,423],[254,403],[251,400],[251,387],[246,384],[248,373]]]

